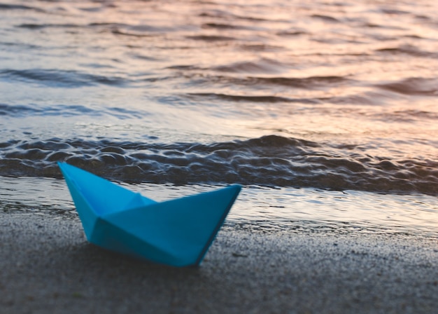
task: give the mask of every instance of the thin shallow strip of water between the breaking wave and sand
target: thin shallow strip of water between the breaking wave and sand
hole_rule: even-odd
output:
[[[218,188],[206,184],[122,185],[157,201]],[[63,219],[77,219],[74,209],[64,181],[20,177],[3,178],[0,182],[0,212],[56,214]],[[436,238],[437,214],[437,198],[421,194],[243,186],[225,226],[246,231]]]

